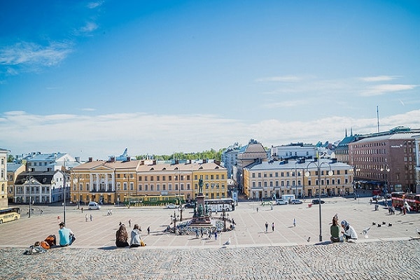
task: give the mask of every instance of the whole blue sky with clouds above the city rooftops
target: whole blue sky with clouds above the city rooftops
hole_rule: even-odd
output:
[[[419,1],[1,1],[1,148],[107,159],[420,128]]]

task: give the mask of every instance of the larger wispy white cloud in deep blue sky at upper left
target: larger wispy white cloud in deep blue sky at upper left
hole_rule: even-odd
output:
[[[0,64],[20,67],[23,71],[37,71],[43,66],[55,66],[73,51],[71,43],[52,42],[49,45],[20,42],[0,48]],[[9,74],[19,69],[10,68]]]

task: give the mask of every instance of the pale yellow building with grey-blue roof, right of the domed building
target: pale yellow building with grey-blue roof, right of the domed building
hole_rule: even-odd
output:
[[[321,180],[318,185],[318,166]],[[331,171],[331,172],[330,172]],[[353,169],[336,160],[255,162],[244,168],[244,194],[251,199],[274,195],[314,197],[353,193]]]

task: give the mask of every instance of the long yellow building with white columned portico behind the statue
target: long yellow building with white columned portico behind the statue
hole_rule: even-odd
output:
[[[90,161],[71,169],[71,200],[105,204],[135,204],[148,201],[147,197],[165,200],[169,196],[195,200],[201,175],[204,195],[227,197],[227,169],[218,162]]]

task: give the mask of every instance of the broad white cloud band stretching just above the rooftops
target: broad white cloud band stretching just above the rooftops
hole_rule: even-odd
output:
[[[315,144],[344,137],[345,129],[354,133],[377,131],[375,118],[324,117],[308,121],[281,119],[244,123],[211,115],[152,115],[116,113],[97,116],[32,115],[22,111],[3,113],[0,131],[7,131],[1,148],[13,154],[62,151],[80,156],[107,159],[128,147],[130,155],[197,152],[224,148],[238,141],[256,139],[264,146],[295,141]],[[381,118],[381,131],[398,125],[420,127],[420,110]],[[22,137],[25,132],[25,137]]]

